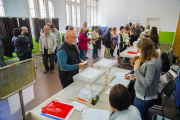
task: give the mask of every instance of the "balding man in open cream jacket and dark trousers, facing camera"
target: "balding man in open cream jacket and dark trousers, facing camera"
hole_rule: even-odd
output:
[[[54,73],[54,52],[56,47],[56,37],[54,34],[50,33],[50,27],[45,25],[44,33],[42,33],[39,38],[39,50],[43,56],[43,63],[45,67],[44,74],[46,74],[48,71],[50,71],[51,74]],[[50,67],[48,65],[48,58],[50,61]]]

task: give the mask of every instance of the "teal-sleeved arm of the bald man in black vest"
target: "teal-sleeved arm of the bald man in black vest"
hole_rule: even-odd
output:
[[[66,71],[72,71],[72,70],[79,69],[78,64],[74,64],[74,65],[67,64],[67,58],[68,57],[67,57],[67,54],[64,50],[59,50],[57,52],[57,57],[58,57],[60,69],[63,69]]]

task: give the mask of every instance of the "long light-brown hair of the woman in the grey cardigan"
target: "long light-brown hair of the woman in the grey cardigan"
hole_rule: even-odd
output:
[[[140,62],[144,63],[146,60],[151,60],[152,57],[158,58],[159,54],[156,52],[152,40],[149,38],[142,38],[138,41],[137,47],[141,49]]]

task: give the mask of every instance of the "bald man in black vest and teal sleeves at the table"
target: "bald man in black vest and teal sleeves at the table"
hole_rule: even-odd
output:
[[[72,30],[66,32],[65,41],[57,50],[59,79],[63,88],[74,82],[73,76],[79,73],[79,69],[84,65],[84,60],[79,57],[79,52],[75,47],[76,34]]]

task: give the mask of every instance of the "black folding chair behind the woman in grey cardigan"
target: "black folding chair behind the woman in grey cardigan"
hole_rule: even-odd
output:
[[[162,91],[160,92],[161,95],[165,96],[165,101],[162,103],[161,106],[154,105],[151,108],[162,111],[162,114],[164,116],[164,107],[169,102],[171,97],[174,95],[175,90],[176,90],[176,84],[175,84],[174,80],[170,80],[166,84],[166,86],[163,87]]]

